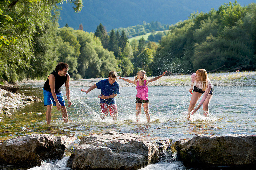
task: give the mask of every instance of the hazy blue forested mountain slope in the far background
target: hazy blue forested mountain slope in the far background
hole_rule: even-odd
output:
[[[158,21],[161,24],[175,24],[188,18],[190,13],[198,10],[208,12],[218,9],[221,4],[235,0],[83,0],[84,8],[75,13],[71,4],[64,3],[60,12],[59,25],[68,24],[78,29],[82,23],[84,31],[95,32],[97,25],[102,23],[107,31],[119,27],[142,25]],[[237,0],[247,5],[255,0]]]

